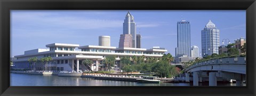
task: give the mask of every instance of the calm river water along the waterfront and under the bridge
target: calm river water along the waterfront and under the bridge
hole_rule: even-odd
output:
[[[137,83],[129,81],[93,80],[81,77],[59,77],[29,74],[10,74],[11,86],[193,86],[193,83]],[[199,86],[207,86],[199,83]],[[221,83],[218,86],[235,86],[235,83]],[[244,84],[245,85],[245,84]]]

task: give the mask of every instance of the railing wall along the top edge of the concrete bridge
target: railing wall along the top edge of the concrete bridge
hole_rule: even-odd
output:
[[[229,57],[229,58],[217,58],[217,59],[210,59],[205,60],[202,62],[195,63],[188,68],[185,69],[185,71],[188,71],[191,68],[202,66],[202,65],[211,65],[211,64],[245,64],[246,63],[246,57]]]

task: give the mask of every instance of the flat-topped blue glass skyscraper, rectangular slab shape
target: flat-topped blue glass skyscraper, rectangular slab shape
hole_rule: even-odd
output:
[[[175,48],[175,56],[180,57],[187,55],[190,57],[190,22],[178,21],[177,22],[177,47]]]

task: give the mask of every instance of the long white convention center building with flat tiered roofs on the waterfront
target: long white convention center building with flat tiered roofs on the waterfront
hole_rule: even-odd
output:
[[[167,50],[163,48],[116,48],[110,46],[79,46],[68,43],[51,43],[46,45],[49,49],[34,49],[25,51],[24,55],[14,56],[17,59],[12,60],[13,69],[28,69],[29,58],[37,57],[38,61],[44,57],[52,57],[51,64],[47,64],[47,69],[51,71],[103,71],[103,59],[106,56],[116,56],[116,65],[120,64],[121,56],[142,56],[161,58]],[[77,50],[75,50],[77,49]],[[91,59],[92,66],[82,64],[84,59]],[[42,62],[36,62],[35,70],[43,71],[45,65]],[[89,69],[89,70],[88,70]]]

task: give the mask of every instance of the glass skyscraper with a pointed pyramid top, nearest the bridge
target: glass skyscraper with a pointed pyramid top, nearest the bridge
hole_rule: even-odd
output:
[[[219,54],[220,30],[210,20],[201,31],[202,56]]]

